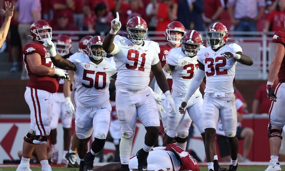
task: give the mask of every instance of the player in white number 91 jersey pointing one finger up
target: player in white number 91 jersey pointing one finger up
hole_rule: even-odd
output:
[[[148,88],[150,70],[166,95],[167,108],[171,105],[175,111],[175,104],[158,58],[158,43],[145,40],[146,22],[141,17],[133,17],[127,22],[126,27],[127,37],[116,35],[121,28],[117,13],[117,18],[111,21],[111,31],[103,42],[103,48],[114,56],[118,71],[115,86],[116,110],[122,133],[121,170],[129,170],[136,120],[139,118],[146,129],[143,148],[137,155],[138,169],[143,171],[147,170],[148,152],[156,143],[160,129],[156,102]]]

